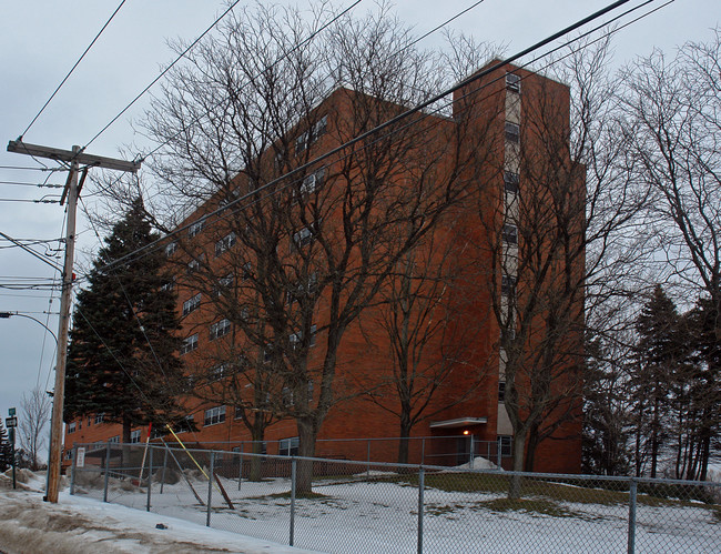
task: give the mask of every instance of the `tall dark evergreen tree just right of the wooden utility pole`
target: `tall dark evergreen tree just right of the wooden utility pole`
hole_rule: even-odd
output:
[[[182,363],[175,294],[165,256],[150,249],[135,260],[110,263],[158,239],[141,199],[115,223],[98,253],[89,286],[78,294],[68,356],[65,420],[103,413],[131,427],[177,417]]]

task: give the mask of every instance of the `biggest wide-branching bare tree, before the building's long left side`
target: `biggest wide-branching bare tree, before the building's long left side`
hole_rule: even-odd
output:
[[[209,301],[189,328],[203,316],[232,323],[227,340],[254,367],[237,405],[292,417],[303,456],[331,407],[357,394],[336,379],[346,331],[464,198],[477,155],[458,148],[463,118],[417,113],[364,135],[429,98],[446,71],[383,11],[305,40],[327,16],[307,23],[258,8],[231,19],[145,122],[166,143],[153,168],[163,190],[227,205],[207,232],[179,240],[176,262],[192,265],[183,280]],[[235,294],[212,292],[223,283]],[[288,400],[273,400],[278,391]],[[302,491],[309,469],[299,467]]]

